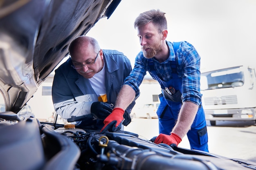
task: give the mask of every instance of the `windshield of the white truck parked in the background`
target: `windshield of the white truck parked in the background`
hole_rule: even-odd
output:
[[[243,86],[244,72],[241,67],[231,67],[201,74],[201,90]]]

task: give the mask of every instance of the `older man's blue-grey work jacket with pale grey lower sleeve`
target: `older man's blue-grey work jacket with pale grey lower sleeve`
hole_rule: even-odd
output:
[[[103,50],[103,60],[106,69],[106,94],[108,103],[114,104],[123,85],[124,79],[130,74],[130,60],[121,52]],[[98,101],[88,79],[71,67],[70,58],[55,70],[52,85],[52,100],[54,109],[62,118],[91,114],[91,105]],[[130,114],[135,101],[126,111]]]

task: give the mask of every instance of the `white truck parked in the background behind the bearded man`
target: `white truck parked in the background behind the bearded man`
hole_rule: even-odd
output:
[[[211,125],[216,120],[256,120],[256,76],[252,66],[201,73],[202,105]]]

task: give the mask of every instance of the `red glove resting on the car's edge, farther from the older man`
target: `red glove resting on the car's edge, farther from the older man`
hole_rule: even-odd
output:
[[[175,144],[176,146],[178,146],[178,144],[180,144],[181,142],[181,138],[175,134],[175,133],[171,133],[171,135],[164,135],[164,134],[159,134],[158,137],[155,139],[155,144],[167,144],[167,145],[171,145],[171,144]]]

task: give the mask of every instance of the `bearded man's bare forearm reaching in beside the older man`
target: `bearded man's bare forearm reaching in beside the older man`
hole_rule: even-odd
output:
[[[126,108],[131,104],[134,98],[135,91],[130,86],[124,85],[121,88],[121,91],[118,93],[115,108],[122,108],[126,110]]]

